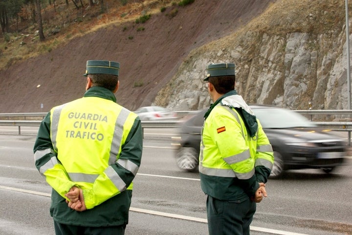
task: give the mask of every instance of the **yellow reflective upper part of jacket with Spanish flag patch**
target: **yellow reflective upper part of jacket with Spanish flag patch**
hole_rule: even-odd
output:
[[[274,158],[269,140],[258,122],[251,138],[234,108],[217,105],[204,122],[199,172],[209,176],[249,179],[256,165],[271,169]]]

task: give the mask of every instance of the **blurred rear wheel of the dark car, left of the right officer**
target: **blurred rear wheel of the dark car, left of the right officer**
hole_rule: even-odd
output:
[[[192,147],[181,147],[176,155],[177,166],[184,170],[198,170],[198,152]]]

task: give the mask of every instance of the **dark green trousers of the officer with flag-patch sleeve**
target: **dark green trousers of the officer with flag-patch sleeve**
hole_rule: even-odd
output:
[[[207,197],[209,235],[249,235],[249,225],[256,211],[251,200],[221,201]]]

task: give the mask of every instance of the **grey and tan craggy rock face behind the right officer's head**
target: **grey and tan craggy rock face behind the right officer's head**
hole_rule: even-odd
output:
[[[309,9],[300,6],[305,1],[294,2],[273,4],[239,32],[193,50],[154,104],[172,110],[209,107],[203,78],[206,65],[214,62],[236,64],[235,89],[248,103],[304,110],[311,102],[313,109],[348,109],[344,8],[331,10],[332,1],[314,1]],[[287,12],[292,7],[293,17],[283,7]],[[286,21],[273,23],[274,15]]]

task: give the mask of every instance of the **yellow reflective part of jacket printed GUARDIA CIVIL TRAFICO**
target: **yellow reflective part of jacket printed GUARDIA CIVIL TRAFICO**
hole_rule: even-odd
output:
[[[99,97],[83,97],[54,107],[50,112],[51,140],[57,160],[62,164],[54,164],[44,172],[47,180],[53,179],[48,182],[50,185],[67,190],[54,180],[55,167],[64,167],[67,177],[79,188],[91,189],[84,194],[87,209],[133,188],[132,183],[126,186],[111,164],[117,162],[128,171],[137,172],[136,164],[119,159],[136,114]]]

